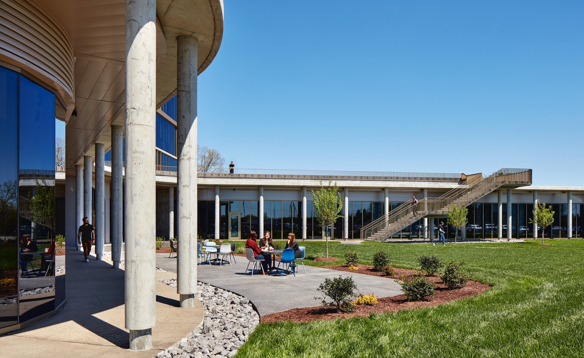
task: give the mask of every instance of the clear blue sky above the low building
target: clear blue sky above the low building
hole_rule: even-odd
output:
[[[584,2],[225,0],[199,143],[239,168],[584,186]]]

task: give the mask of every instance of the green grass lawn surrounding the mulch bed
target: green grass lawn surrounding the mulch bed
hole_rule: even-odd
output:
[[[329,255],[343,263],[345,252],[355,251],[361,264],[371,264],[377,250],[389,252],[399,268],[419,269],[416,257],[422,254],[464,260],[474,280],[493,288],[470,299],[368,318],[260,324],[237,357],[584,357],[584,240],[538,242],[329,243]],[[307,257],[324,256],[324,243],[300,244]],[[287,294],[294,293],[274,299]]]

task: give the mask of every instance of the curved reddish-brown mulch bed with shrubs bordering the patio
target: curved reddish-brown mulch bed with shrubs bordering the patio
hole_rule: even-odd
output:
[[[385,276],[383,272],[373,271],[373,266],[357,264],[357,271],[349,269],[346,265],[324,266],[328,269],[336,269],[346,272],[364,273],[366,275],[382,276],[385,278],[402,279],[401,275],[406,278],[417,275],[419,271],[394,268],[395,275]],[[449,303],[454,300],[465,299],[467,297],[477,296],[491,288],[489,285],[476,281],[468,281],[464,287],[456,290],[446,289],[439,277],[429,276],[427,279],[436,285],[436,296],[431,296],[427,301],[408,301],[405,294],[399,294],[392,297],[377,298],[377,304],[373,306],[357,305],[354,311],[350,313],[337,313],[328,306],[294,308],[283,312],[273,313],[262,317],[263,323],[272,323],[280,321],[293,322],[310,322],[310,321],[328,321],[336,318],[368,317],[371,313],[388,313],[399,310],[412,310],[419,307],[432,307],[439,304]]]

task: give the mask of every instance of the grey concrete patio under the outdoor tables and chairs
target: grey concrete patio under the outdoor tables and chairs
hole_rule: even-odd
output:
[[[235,260],[237,264],[223,266],[203,263],[197,266],[197,279],[247,297],[257,308],[260,317],[291,308],[320,306],[320,301],[314,299],[315,296],[322,296],[322,293],[317,291],[318,286],[325,278],[332,279],[339,275],[353,276],[360,293],[374,293],[377,297],[396,296],[402,293],[401,286],[392,279],[313,266],[305,266],[304,273],[300,265],[296,277],[292,274],[284,275],[283,278],[280,275],[245,275],[248,260],[242,256],[236,256]],[[176,258],[168,258],[168,254],[157,254],[156,265],[167,271],[176,272]]]

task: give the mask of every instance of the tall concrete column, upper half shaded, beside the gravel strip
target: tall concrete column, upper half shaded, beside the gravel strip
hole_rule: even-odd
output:
[[[197,38],[178,37],[176,134],[178,139],[178,250],[180,307],[194,307],[197,293]]]

